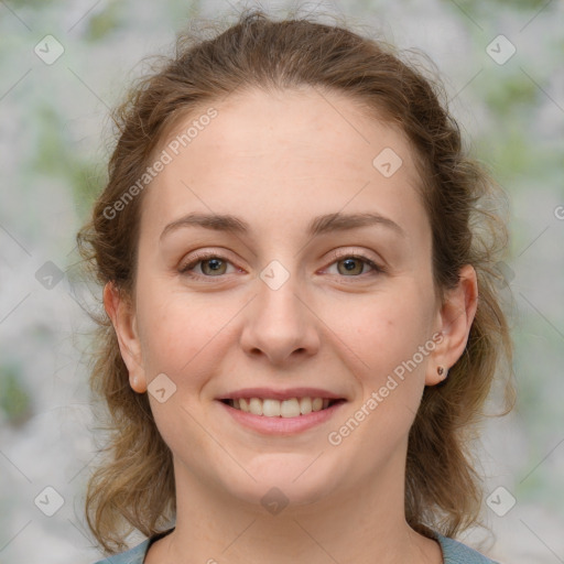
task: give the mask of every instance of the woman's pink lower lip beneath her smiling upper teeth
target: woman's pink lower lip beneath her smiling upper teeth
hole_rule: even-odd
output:
[[[293,435],[312,429],[328,421],[345,403],[345,401],[341,401],[325,410],[312,411],[307,415],[299,415],[297,417],[267,417],[247,413],[219,401],[219,404],[241,425],[267,435]]]

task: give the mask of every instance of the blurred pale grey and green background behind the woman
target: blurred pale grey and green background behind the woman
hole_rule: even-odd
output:
[[[246,7],[258,6],[247,2]],[[292,2],[264,2],[283,17]],[[460,540],[511,564],[564,563],[564,6],[557,0],[302,3],[437,65],[475,154],[510,196],[500,284],[518,404],[484,424],[484,518]],[[109,109],[192,15],[242,4],[0,0],[0,563],[90,564],[97,463],[75,234],[106,178]],[[323,17],[321,17],[323,20]],[[327,20],[330,21],[330,20]],[[494,411],[494,410],[492,410]],[[143,540],[133,533],[130,544]]]

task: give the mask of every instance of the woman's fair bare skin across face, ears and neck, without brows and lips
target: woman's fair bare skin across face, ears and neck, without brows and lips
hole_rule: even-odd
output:
[[[424,387],[465,349],[476,273],[465,267],[458,286],[437,300],[410,145],[354,100],[312,88],[250,90],[214,107],[218,116],[144,193],[132,305],[110,283],[104,294],[133,390],[145,393],[162,372],[176,386],[163,403],[149,394],[173,453],[177,520],[145,562],[438,564],[438,543],[405,522],[406,441]],[[174,134],[193,119],[181,119]],[[384,148],[403,160],[390,177],[372,165]],[[189,227],[160,241],[167,224],[192,212],[239,216],[251,232]],[[306,235],[313,217],[336,212],[378,213],[404,235],[382,225]],[[219,274],[205,261],[191,271],[198,280],[178,272],[198,249],[228,261]],[[358,253],[386,271],[359,260],[350,273],[344,263]],[[290,276],[278,290],[259,278],[272,260]],[[328,433],[435,333],[434,350],[329,444]],[[216,401],[254,386],[318,387],[348,403],[300,435],[267,436]],[[272,487],[290,500],[278,514],[261,505]]]

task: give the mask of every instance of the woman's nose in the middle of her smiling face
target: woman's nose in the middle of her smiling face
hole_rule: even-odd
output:
[[[269,274],[273,276],[269,278]],[[290,274],[290,273],[289,273]],[[264,269],[258,294],[246,308],[240,344],[250,356],[263,355],[273,365],[303,361],[319,349],[319,318],[294,274]],[[278,280],[276,280],[278,276]]]

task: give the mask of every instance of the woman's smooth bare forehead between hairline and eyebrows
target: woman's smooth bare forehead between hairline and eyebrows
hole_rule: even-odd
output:
[[[178,119],[153,161],[163,151],[169,162],[144,194],[141,225],[151,236],[193,210],[237,208],[262,227],[300,228],[340,210],[414,227],[424,219],[405,135],[338,93],[231,94]]]

